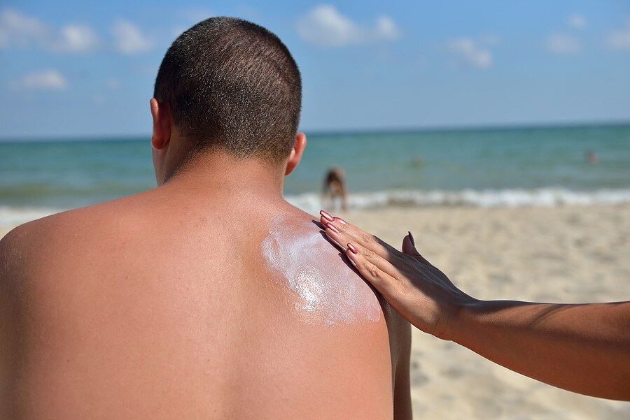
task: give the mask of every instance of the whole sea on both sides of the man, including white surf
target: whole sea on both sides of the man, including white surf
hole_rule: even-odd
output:
[[[346,171],[353,208],[630,201],[630,124],[307,138],[285,195],[309,211],[330,166]],[[0,224],[153,187],[148,136],[0,143]]]

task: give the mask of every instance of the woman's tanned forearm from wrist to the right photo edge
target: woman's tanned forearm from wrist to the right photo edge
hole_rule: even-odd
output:
[[[630,303],[476,301],[444,338],[569,391],[630,399]]]

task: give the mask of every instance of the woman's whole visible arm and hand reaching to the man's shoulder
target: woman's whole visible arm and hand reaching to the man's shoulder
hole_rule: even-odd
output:
[[[321,223],[365,280],[421,331],[568,391],[630,400],[630,302],[478,300],[424,259],[410,232],[399,252],[327,212]]]

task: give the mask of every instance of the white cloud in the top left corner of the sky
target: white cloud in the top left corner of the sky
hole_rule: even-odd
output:
[[[0,48],[38,45],[53,52],[87,52],[97,46],[94,31],[83,24],[55,29],[18,10],[0,12]]]

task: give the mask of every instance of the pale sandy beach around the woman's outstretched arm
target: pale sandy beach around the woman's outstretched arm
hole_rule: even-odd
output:
[[[388,208],[337,214],[419,251],[481,299],[630,299],[630,205]],[[0,234],[6,231],[0,232]],[[630,403],[579,396],[414,330],[414,419],[628,419]]]

